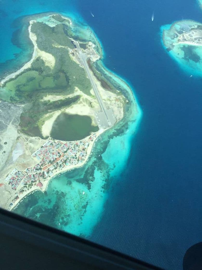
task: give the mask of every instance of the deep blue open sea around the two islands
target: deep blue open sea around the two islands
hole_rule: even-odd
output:
[[[2,0],[0,8],[3,60],[18,52],[11,46],[11,23],[18,16],[75,10],[93,28],[105,65],[133,86],[143,117],[128,168],[112,185],[90,240],[182,269],[186,250],[202,241],[202,78],[190,78],[170,58],[160,27],[183,18],[202,22],[197,2]]]

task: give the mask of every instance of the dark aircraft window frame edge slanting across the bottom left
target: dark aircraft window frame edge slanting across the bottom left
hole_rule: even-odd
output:
[[[20,269],[18,263],[23,264],[21,269],[32,269],[32,266],[37,269],[37,263],[41,264],[42,261],[47,263],[44,254],[47,254],[49,263],[51,262],[53,266],[53,268],[49,266],[47,269],[54,269],[61,262],[66,265],[66,269],[160,269],[1,208],[0,237],[1,269]],[[17,246],[18,248],[16,248]],[[29,254],[30,246],[32,247],[31,254]],[[36,257],[34,253],[40,250],[42,250],[41,254],[37,254]],[[12,259],[8,260],[11,258],[11,254]],[[54,258],[58,257],[60,259],[54,261]],[[33,264],[32,258],[35,264]],[[60,266],[60,269],[63,268]]]

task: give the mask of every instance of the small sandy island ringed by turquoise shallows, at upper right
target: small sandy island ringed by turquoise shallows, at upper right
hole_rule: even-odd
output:
[[[169,55],[190,76],[202,73],[202,24],[192,20],[161,28],[162,42]]]

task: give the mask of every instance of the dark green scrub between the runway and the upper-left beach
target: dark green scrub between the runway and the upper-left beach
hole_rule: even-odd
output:
[[[64,33],[64,25],[50,27],[36,22],[33,23],[31,30],[37,36],[38,48],[53,55],[56,61],[52,70],[42,71],[43,75],[51,76],[62,72],[66,78],[68,93],[73,93],[75,87],[78,87],[85,94],[90,95],[91,84],[85,70],[71,60],[66,48],[60,47],[74,48],[71,39]]]

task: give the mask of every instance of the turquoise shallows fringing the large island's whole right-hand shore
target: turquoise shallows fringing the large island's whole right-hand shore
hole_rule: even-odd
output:
[[[41,16],[38,17],[38,19]],[[80,40],[91,40],[104,58],[101,42],[85,23],[73,22],[71,35]],[[35,221],[59,228],[74,235],[88,237],[107,207],[111,184],[126,169],[131,142],[138,129],[142,112],[131,86],[108,70],[102,60],[96,69],[128,99],[124,118],[96,140],[87,163],[50,180],[47,190],[36,191],[24,198],[13,210]],[[118,199],[118,198],[117,198]]]

